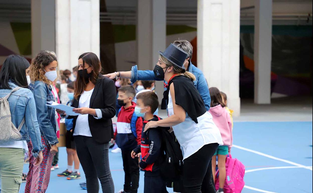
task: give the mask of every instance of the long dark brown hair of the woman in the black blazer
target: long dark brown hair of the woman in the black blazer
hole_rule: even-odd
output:
[[[97,80],[102,78],[102,76],[101,77],[99,76],[101,63],[100,63],[98,56],[95,53],[86,52],[86,53],[81,54],[78,59],[83,60],[83,68],[85,68],[85,63],[87,63],[91,66],[91,68],[92,68],[91,74],[92,75],[90,77],[90,81],[92,82],[92,84],[96,84]],[[77,76],[77,79],[75,81],[75,87],[74,87],[75,88],[75,94],[74,94],[75,99],[77,99],[78,96],[81,95],[85,91],[85,88],[88,84],[88,82],[86,83],[84,81],[85,76],[86,76],[86,74],[83,74],[83,77]]]

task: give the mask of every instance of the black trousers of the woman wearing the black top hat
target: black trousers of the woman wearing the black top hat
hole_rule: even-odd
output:
[[[184,193],[215,193],[212,182],[211,159],[218,143],[204,145],[196,153],[184,160]]]

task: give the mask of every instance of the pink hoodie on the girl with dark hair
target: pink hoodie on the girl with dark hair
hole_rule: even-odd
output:
[[[209,113],[212,114],[213,122],[221,132],[224,145],[227,145],[230,149],[233,146],[233,131],[229,113],[225,107],[222,107],[220,104],[211,107]]]

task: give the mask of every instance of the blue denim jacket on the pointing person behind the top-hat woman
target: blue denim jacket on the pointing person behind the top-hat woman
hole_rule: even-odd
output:
[[[191,62],[187,71],[196,76],[196,80],[193,81],[193,83],[204,101],[205,108],[209,110],[211,97],[209,93],[208,83],[204,78],[202,71],[195,67]],[[131,67],[131,82],[134,83],[136,82],[136,80],[161,80],[161,79],[157,79],[154,76],[152,70],[138,70],[137,65],[135,65]],[[167,84],[166,81],[164,81],[164,83]],[[164,88],[164,90],[166,90],[166,88]]]

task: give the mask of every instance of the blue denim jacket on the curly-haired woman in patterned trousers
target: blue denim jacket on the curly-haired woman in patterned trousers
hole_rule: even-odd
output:
[[[47,101],[54,101],[52,87],[37,80],[34,84],[29,84],[29,89],[33,92],[36,102],[40,134],[46,138],[49,145],[59,143],[56,135],[55,109],[46,105]]]

